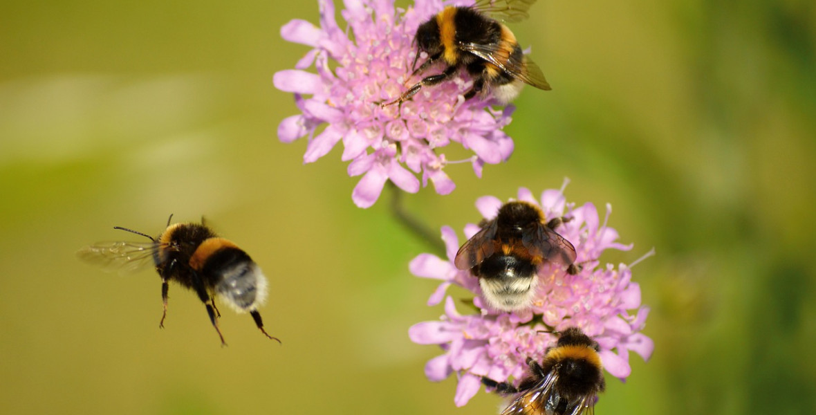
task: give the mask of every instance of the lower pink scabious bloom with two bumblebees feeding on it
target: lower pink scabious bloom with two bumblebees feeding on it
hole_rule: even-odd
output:
[[[632,245],[616,243],[618,232],[606,226],[606,220],[601,224],[592,203],[575,207],[574,203],[565,202],[562,190],[545,190],[541,199],[536,200],[530,190],[522,188],[518,200],[538,205],[547,220],[558,216],[572,218],[557,231],[574,244],[578,254],[575,263],[583,266],[575,275],[567,274],[561,266],[543,266],[539,270],[538,299],[530,310],[508,313],[486,305],[477,278],[454,265],[459,239],[448,226],[442,228],[447,259],[424,253],[410,262],[411,273],[442,281],[428,306],[440,303],[451,284],[467,288],[476,296],[473,306],[478,314],[460,314],[455,301],[448,296],[440,321],[415,324],[408,331],[411,341],[439,345],[445,350],[428,361],[425,375],[438,382],[456,373],[459,377],[456,406],[467,404],[476,395],[481,377],[518,385],[527,369],[526,358],[540,362],[547,348],[555,346],[557,336],[542,332],[549,328],[556,331],[571,326],[581,328],[601,346],[601,362],[606,371],[621,380],[631,373],[630,350],[643,359],[649,359],[654,350],[654,342],[640,332],[649,308],[641,306],[641,289],[632,282],[631,266],[599,266],[597,261],[607,248],[628,251]],[[476,206],[482,216],[490,219],[502,204],[499,199],[486,196],[478,199]],[[610,211],[607,205],[607,218]],[[478,230],[477,225],[470,224],[465,226],[464,234],[470,238]]]

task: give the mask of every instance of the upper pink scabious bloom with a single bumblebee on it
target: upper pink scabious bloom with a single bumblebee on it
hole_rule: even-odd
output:
[[[402,105],[381,108],[379,103],[399,96],[417,77],[409,78],[417,48],[417,27],[441,11],[440,0],[417,0],[407,10],[393,0],[344,0],[340,12],[347,27],[335,20],[332,0],[318,0],[320,27],[291,20],[281,29],[289,42],[313,47],[295,69],[277,72],[273,82],[295,95],[302,114],[285,118],[277,128],[283,142],[308,136],[304,163],[312,163],[343,141],[343,161],[349,176],[361,176],[352,193],[357,206],[369,208],[390,180],[401,190],[419,191],[433,183],[437,193],[449,194],[454,182],[443,171],[441,149],[451,142],[473,152],[466,161],[481,176],[485,163],[510,157],[512,139],[502,132],[514,107],[494,109],[489,98],[465,101],[472,87],[467,74],[424,87]],[[419,56],[421,63],[427,56]],[[308,72],[314,65],[317,74]],[[434,66],[428,69],[441,71]],[[433,72],[436,74],[437,72]],[[427,76],[427,74],[426,74]]]

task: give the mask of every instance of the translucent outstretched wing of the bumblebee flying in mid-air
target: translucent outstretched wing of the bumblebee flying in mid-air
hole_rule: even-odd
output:
[[[100,242],[80,249],[77,257],[106,271],[127,274],[153,265],[153,251],[157,248],[153,242]]]

